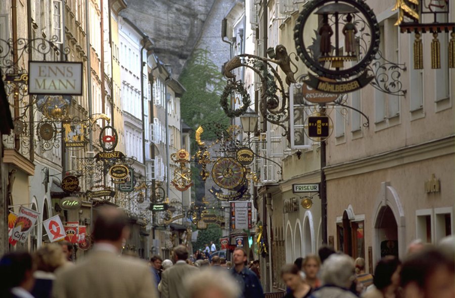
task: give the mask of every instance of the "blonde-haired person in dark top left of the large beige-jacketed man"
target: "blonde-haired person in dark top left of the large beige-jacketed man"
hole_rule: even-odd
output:
[[[54,272],[66,262],[62,247],[58,244],[47,244],[33,254],[36,271],[33,273],[35,285],[31,294],[35,298],[50,298],[55,280]]]

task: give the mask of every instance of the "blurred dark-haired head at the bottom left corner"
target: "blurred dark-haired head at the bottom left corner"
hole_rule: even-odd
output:
[[[9,290],[19,286],[32,270],[32,256],[27,252],[12,252],[0,259],[0,296],[8,297]]]

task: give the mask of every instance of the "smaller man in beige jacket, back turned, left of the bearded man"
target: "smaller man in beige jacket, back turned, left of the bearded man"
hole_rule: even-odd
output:
[[[174,248],[173,258],[175,265],[161,274],[161,298],[186,298],[188,290],[183,283],[186,277],[198,269],[185,262],[188,259],[188,250],[183,245]]]

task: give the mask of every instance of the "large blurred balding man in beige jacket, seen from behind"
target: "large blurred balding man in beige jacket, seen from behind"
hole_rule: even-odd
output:
[[[55,280],[55,298],[156,298],[150,268],[145,262],[119,256],[129,227],[123,212],[100,210],[92,236],[93,251],[81,262],[63,270]]]

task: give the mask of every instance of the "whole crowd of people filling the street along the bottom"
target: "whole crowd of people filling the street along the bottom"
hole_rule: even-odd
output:
[[[93,251],[72,262],[70,243],[47,244],[30,255],[11,252],[0,259],[0,297],[5,298],[263,298],[259,261],[247,263],[236,248],[232,262],[219,256],[198,258],[185,246],[172,260],[153,256],[150,263],[120,256],[129,237],[124,214],[100,211],[92,236]],[[206,247],[209,251],[214,247]],[[455,298],[455,238],[437,247],[413,242],[401,261],[386,256],[366,272],[365,260],[323,247],[281,268],[285,298]],[[277,297],[275,295],[274,297]]]

